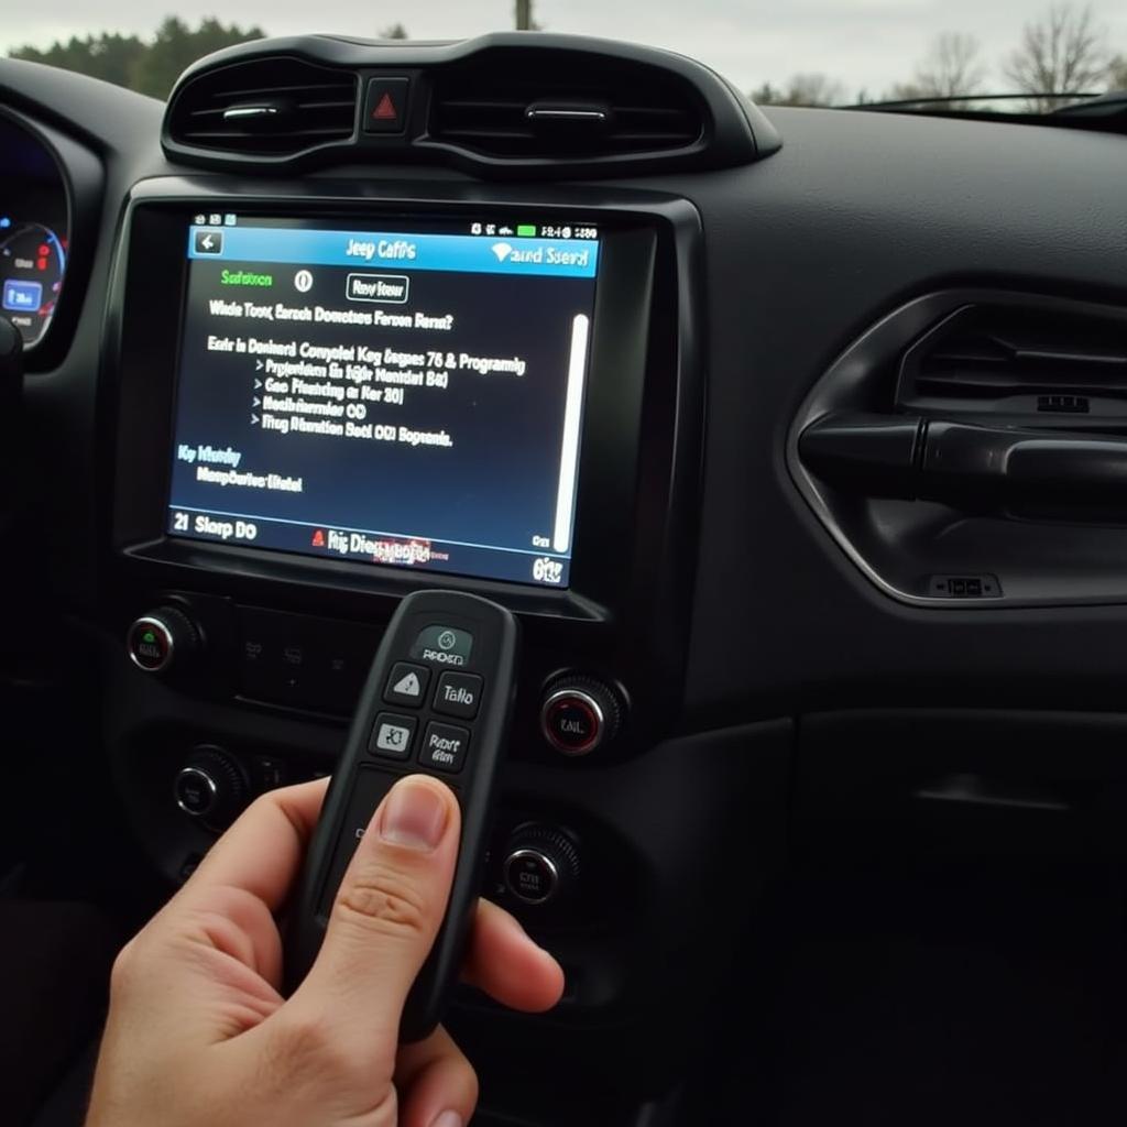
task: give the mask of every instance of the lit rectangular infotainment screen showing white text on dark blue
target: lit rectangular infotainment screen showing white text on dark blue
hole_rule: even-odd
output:
[[[568,585],[594,225],[186,220],[170,535]]]

